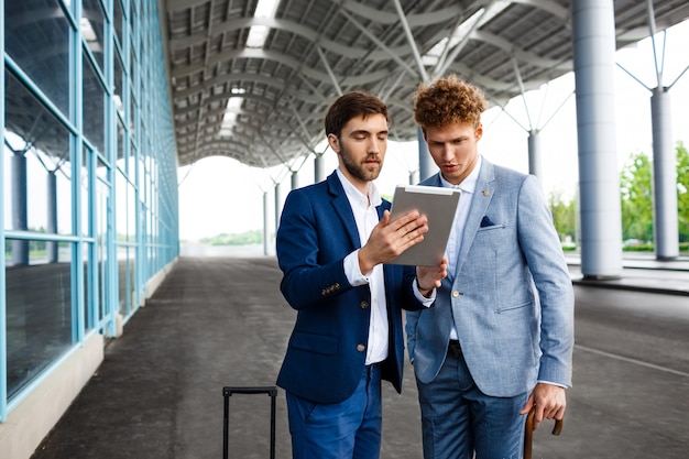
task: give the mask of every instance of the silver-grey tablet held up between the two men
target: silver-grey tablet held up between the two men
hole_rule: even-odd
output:
[[[390,221],[416,209],[428,218],[428,232],[424,234],[422,242],[412,245],[387,263],[413,266],[440,265],[452,229],[459,195],[459,189],[455,188],[397,185]]]

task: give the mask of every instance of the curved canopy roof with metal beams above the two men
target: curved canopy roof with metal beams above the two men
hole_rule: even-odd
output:
[[[686,0],[615,0],[616,45],[689,18]],[[226,155],[270,167],[316,152],[325,110],[363,89],[392,139],[416,139],[420,81],[457,73],[504,106],[573,69],[569,0],[166,0],[179,165]],[[254,41],[254,33],[263,36]]]

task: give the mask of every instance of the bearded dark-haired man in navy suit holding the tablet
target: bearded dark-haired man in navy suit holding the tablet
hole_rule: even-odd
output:
[[[286,392],[295,459],[374,459],[381,380],[401,391],[401,308],[429,306],[417,283],[439,284],[447,265],[418,278],[414,267],[383,265],[428,231],[417,211],[391,222],[390,203],[372,183],[385,157],[386,106],[346,94],[325,128],[339,167],[289,193],[277,230],[281,291],[297,310],[277,384]]]

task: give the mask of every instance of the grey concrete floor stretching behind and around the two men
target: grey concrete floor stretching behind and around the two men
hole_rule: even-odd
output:
[[[687,457],[689,270],[638,267],[601,288],[572,262],[575,387],[562,434],[537,430],[534,458]],[[182,258],[32,458],[220,458],[222,386],[273,385],[280,369],[295,316],[281,276],[271,256]],[[422,457],[405,371],[402,395],[383,387],[385,459]],[[269,412],[267,395],[230,398],[230,458],[269,457]],[[289,458],[282,390],[276,444]]]

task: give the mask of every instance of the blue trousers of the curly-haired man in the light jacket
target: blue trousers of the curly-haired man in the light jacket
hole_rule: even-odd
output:
[[[518,459],[528,393],[501,398],[477,387],[463,358],[447,356],[429,384],[416,380],[424,459]]]

